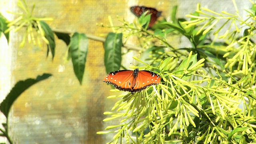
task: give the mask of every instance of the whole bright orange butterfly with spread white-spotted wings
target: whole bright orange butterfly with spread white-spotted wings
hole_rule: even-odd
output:
[[[114,85],[118,90],[139,92],[148,86],[157,85],[161,77],[148,70],[118,70],[108,73],[103,82]]]

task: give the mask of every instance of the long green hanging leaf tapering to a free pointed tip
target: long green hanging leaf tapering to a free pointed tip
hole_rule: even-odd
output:
[[[70,55],[74,67],[74,72],[80,84],[82,84],[86,56],[88,52],[88,38],[85,34],[75,32],[70,41]]]

